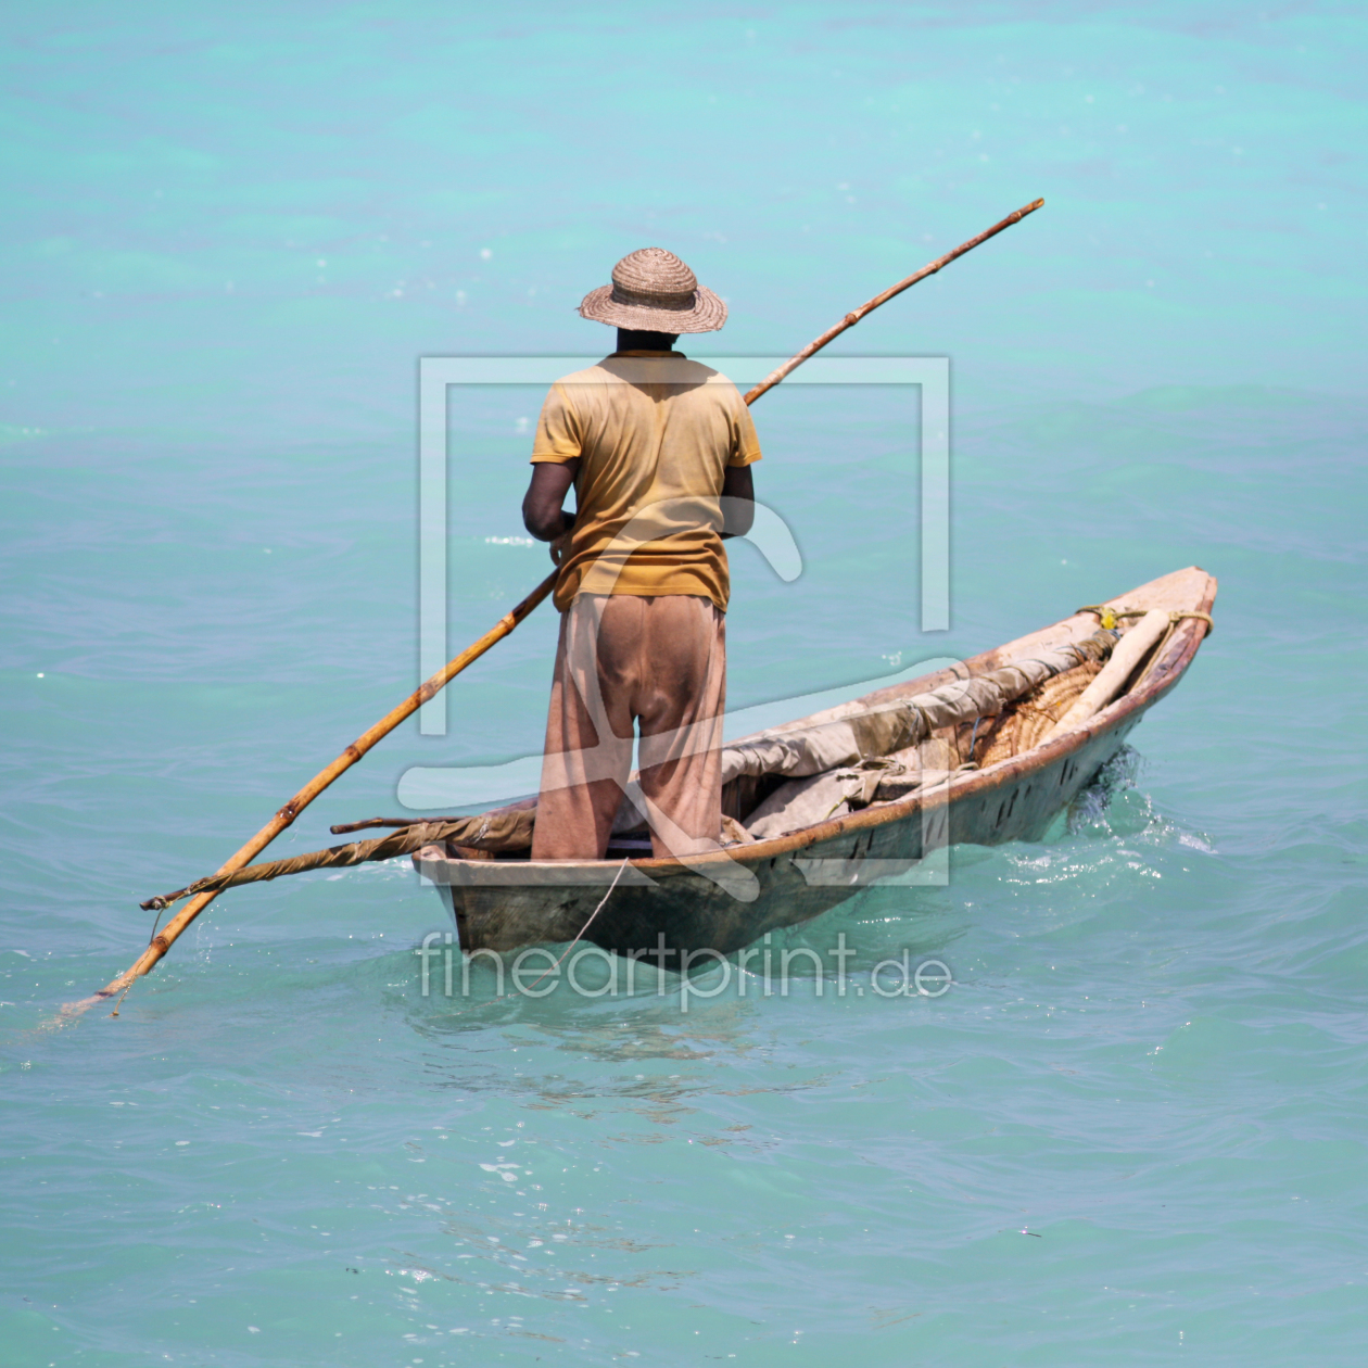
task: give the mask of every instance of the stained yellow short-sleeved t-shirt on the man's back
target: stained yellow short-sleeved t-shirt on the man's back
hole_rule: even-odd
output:
[[[722,479],[761,458],[736,386],[679,352],[614,353],[557,380],[542,405],[532,461],[576,458],[555,606],[576,594],[696,594],[725,611]]]

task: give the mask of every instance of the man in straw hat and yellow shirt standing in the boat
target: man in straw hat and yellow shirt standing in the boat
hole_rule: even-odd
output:
[[[532,859],[603,858],[633,725],[654,854],[699,854],[721,837],[722,540],[750,531],[759,440],[736,386],[673,350],[726,321],[673,253],[622,257],[580,315],[616,327],[617,350],[551,386],[523,501],[561,611]]]

